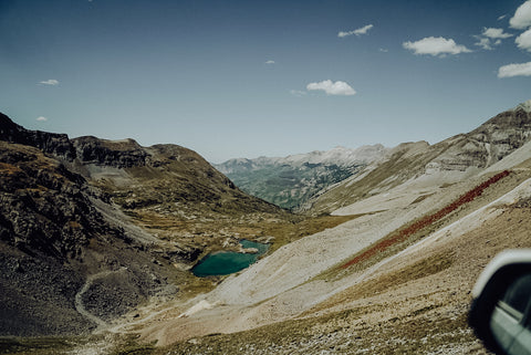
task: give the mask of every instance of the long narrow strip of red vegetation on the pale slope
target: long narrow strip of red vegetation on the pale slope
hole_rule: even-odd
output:
[[[494,176],[492,176],[490,179],[486,180],[485,182],[476,186],[473,189],[470,191],[466,192],[465,195],[460,196],[457,200],[454,202],[447,205],[442,209],[438,210],[435,213],[425,216],[420,218],[419,220],[413,222],[412,225],[405,227],[404,229],[400,229],[394,233],[392,233],[389,237],[385,238],[384,240],[381,240],[379,242],[373,244],[369,249],[365,250],[363,253],[360,255],[355,257],[351,261],[346,262],[343,264],[341,268],[346,269],[351,265],[354,265],[361,261],[367,260],[371,257],[375,255],[378,252],[387,250],[389,247],[397,244],[410,236],[415,234],[419,230],[421,230],[425,227],[431,226],[436,221],[442,219],[444,217],[448,216],[459,207],[461,207],[465,203],[473,201],[477,197],[481,196],[485,189],[487,189],[489,186],[492,184],[498,182],[506,176],[508,176],[510,173],[508,170],[503,170]]]

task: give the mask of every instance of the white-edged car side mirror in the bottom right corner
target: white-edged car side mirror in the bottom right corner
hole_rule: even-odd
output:
[[[509,250],[483,270],[469,324],[496,354],[531,355],[531,249]]]

